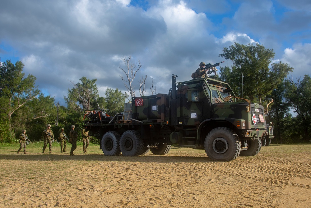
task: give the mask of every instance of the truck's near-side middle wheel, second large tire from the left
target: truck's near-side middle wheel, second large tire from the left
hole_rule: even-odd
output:
[[[124,156],[139,156],[144,152],[144,142],[137,131],[128,130],[120,138],[120,148]]]

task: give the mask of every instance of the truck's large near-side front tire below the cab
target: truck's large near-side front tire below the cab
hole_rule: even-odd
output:
[[[207,134],[204,149],[207,156],[212,160],[231,161],[239,156],[241,142],[239,137],[229,128],[218,127]]]

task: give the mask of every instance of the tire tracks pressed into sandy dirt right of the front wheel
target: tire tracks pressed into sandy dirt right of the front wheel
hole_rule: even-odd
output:
[[[292,182],[297,178],[304,180],[311,178],[309,163],[299,163],[277,159],[260,160],[258,158],[245,163],[241,162],[242,161],[195,163],[194,165],[220,174],[236,176],[244,179],[262,181],[275,185],[289,185],[311,189],[311,186],[308,184]],[[264,173],[264,175],[260,176],[259,174],[262,173]]]

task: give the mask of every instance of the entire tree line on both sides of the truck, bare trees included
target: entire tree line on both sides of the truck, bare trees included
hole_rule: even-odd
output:
[[[293,68],[287,63],[273,62],[272,49],[256,44],[241,45],[234,43],[224,48],[220,57],[233,62],[232,66],[220,67],[220,79],[230,84],[237,97],[267,106],[269,98],[274,102],[266,112],[267,122],[273,123],[274,143],[310,142],[311,128],[311,79],[290,77]],[[70,129],[72,124],[82,129],[83,114],[87,109],[109,109],[110,112],[122,112],[126,99],[135,96],[133,80],[141,68],[131,63],[131,56],[123,57],[125,68],[120,68],[125,78],[121,79],[129,94],[118,88],[108,88],[105,97],[99,96],[96,79],[82,77],[78,83],[72,82],[62,106],[50,95],[45,96],[39,86],[35,86],[36,77],[23,73],[24,64],[10,60],[0,65],[0,142],[14,142],[22,129],[34,141],[41,140],[41,133],[47,123],[54,132],[61,128]],[[147,76],[139,80],[139,96],[145,92]],[[151,86],[151,93],[156,88]],[[108,112],[109,113],[109,112]],[[98,141],[93,141],[97,143]]]

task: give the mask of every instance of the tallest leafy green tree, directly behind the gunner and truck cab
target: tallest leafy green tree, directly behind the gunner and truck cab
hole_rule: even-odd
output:
[[[242,86],[237,85],[241,83],[243,73],[244,98],[259,104],[262,104],[262,99],[268,98],[272,90],[293,70],[288,64],[282,62],[271,64],[274,58],[273,50],[259,44],[234,43],[230,49],[224,48],[219,56],[231,60],[234,64],[231,70],[229,67],[221,67],[220,78],[229,85],[236,86],[235,93],[242,97]],[[270,64],[271,68],[269,68]]]

